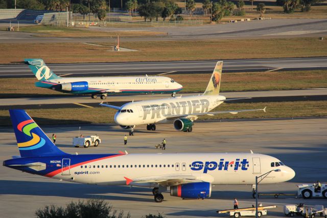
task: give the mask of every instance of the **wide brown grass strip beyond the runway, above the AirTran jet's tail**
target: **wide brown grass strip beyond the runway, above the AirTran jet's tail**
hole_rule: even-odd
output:
[[[47,63],[71,62],[125,62],[207,59],[248,59],[280,57],[313,57],[327,55],[327,40],[309,38],[237,39],[210,41],[141,41],[124,42],[121,47],[136,52],[111,52],[103,47],[82,43],[1,43],[6,54],[0,63],[22,61],[24,58],[42,58]],[[108,51],[110,50],[110,51]]]

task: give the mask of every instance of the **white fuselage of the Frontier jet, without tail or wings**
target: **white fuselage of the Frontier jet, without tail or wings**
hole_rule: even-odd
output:
[[[122,126],[172,122],[168,119],[172,115],[209,112],[225,99],[221,95],[199,95],[129,102],[120,107],[114,121]]]

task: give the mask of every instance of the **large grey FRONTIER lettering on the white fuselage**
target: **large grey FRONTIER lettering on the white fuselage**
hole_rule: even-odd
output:
[[[209,111],[209,101],[207,99],[191,100],[191,101],[178,101],[162,104],[142,105],[143,107],[143,120],[148,116],[151,119],[163,118],[168,115],[183,115],[205,113]]]

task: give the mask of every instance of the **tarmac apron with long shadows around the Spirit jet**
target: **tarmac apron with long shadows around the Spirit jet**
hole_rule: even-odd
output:
[[[288,120],[239,120],[199,121],[192,133],[172,130],[171,125],[157,125],[157,131],[146,131],[146,126],[137,126],[135,136],[128,137],[123,146],[126,130],[112,124],[44,127],[48,136],[57,134],[57,146],[65,152],[79,154],[156,152],[250,152],[274,156],[292,167],[296,176],[289,182],[260,185],[260,192],[295,193],[296,184],[327,182],[326,129],[327,119]],[[97,133],[103,140],[99,147],[74,148],[72,137],[79,134]],[[0,130],[0,161],[18,155],[12,129]],[[166,150],[157,150],[154,145],[167,140]],[[212,198],[207,200],[181,200],[164,194],[164,202],[155,203],[150,188],[125,186],[93,186],[62,182],[50,178],[29,175],[7,167],[0,167],[0,211],[3,217],[34,217],[36,209],[44,205],[65,206],[80,199],[101,198],[116,210],[130,211],[132,217],[163,213],[167,217],[228,217],[218,215],[216,210],[232,207],[232,198],[237,197],[240,207],[255,204],[251,198],[251,186],[218,185],[213,187]],[[285,217],[283,205],[322,204],[324,199],[295,199],[294,197],[262,197],[264,205],[277,205],[268,211],[267,218]]]

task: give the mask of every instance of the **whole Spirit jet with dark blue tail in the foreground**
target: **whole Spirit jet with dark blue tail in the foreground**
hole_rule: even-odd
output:
[[[44,177],[95,185],[153,188],[154,200],[170,187],[170,195],[211,197],[212,185],[251,185],[267,172],[261,184],[286,182],[295,172],[280,160],[251,153],[87,154],[61,151],[24,110],[10,110],[20,156],[4,166]]]

